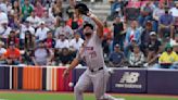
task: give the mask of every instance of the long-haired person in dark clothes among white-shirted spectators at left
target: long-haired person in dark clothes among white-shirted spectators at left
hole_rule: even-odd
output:
[[[24,39],[25,51],[34,50],[35,49],[35,42],[36,41],[35,41],[34,35],[29,30],[26,30],[25,32],[25,39]]]

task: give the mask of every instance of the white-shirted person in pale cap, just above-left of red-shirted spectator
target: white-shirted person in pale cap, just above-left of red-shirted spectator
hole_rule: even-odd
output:
[[[37,28],[37,32],[36,32],[36,38],[37,38],[37,41],[39,40],[43,40],[47,38],[47,33],[49,32],[50,29],[48,27],[46,27],[46,23],[44,22],[40,22],[40,26],[39,28]]]

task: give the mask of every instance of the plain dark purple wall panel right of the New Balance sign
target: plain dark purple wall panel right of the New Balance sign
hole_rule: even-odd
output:
[[[148,71],[148,93],[178,95],[178,71]]]

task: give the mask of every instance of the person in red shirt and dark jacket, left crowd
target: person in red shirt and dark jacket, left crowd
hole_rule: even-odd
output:
[[[53,39],[53,34],[51,30],[47,33],[47,38],[43,40],[47,48],[54,48],[55,40]]]

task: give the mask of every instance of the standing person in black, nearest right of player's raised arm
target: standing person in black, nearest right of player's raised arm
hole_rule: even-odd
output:
[[[113,47],[118,43],[120,49],[124,48],[124,24],[120,22],[120,17],[117,16],[113,24],[114,35],[113,35]]]

